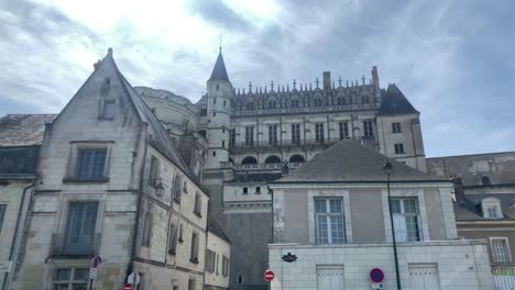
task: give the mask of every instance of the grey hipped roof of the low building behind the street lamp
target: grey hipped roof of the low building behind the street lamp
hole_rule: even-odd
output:
[[[272,183],[385,182],[383,166],[386,160],[393,165],[392,181],[450,182],[391,159],[355,141],[341,141]]]

